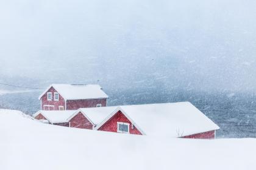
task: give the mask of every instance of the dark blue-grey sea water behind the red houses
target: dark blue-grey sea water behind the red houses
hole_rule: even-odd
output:
[[[0,106],[34,114],[40,109],[40,92],[0,95]],[[208,94],[202,92],[124,90],[110,96],[108,106],[190,101],[221,129],[218,138],[256,137],[256,97],[251,94]]]

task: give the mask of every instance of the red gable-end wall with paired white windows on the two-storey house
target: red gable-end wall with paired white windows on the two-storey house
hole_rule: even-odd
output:
[[[47,93],[52,92],[52,100],[47,100]],[[44,110],[44,105],[53,105],[54,110],[59,110],[59,106],[63,106],[65,109],[65,100],[64,98],[59,94],[59,101],[54,101],[54,92],[57,92],[54,87],[51,87],[48,92],[46,92],[43,97],[41,97],[41,110]]]

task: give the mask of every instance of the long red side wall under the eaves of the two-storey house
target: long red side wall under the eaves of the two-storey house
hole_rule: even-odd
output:
[[[107,99],[91,99],[91,100],[67,100],[67,110],[77,110],[85,107],[96,107],[97,104],[101,104],[102,107],[107,106]]]

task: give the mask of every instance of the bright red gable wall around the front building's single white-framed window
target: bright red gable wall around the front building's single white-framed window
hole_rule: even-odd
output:
[[[127,117],[119,110],[110,120],[108,120],[105,124],[103,124],[98,131],[107,131],[107,132],[117,132],[117,123],[124,122],[129,123],[129,131],[130,134],[142,135],[140,131],[134,126],[132,129],[132,123],[127,119]]]

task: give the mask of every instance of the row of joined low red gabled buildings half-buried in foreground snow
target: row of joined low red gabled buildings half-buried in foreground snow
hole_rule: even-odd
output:
[[[182,138],[215,138],[219,127],[189,102],[40,110],[34,117],[60,126]]]

